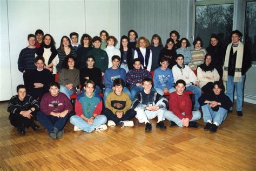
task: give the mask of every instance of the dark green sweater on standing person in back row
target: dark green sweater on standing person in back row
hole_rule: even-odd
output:
[[[93,48],[91,51],[88,52],[87,56],[92,55],[95,58],[95,66],[96,68],[99,68],[104,73],[107,69],[107,66],[109,66],[109,57],[107,56],[107,53],[103,51],[102,49]]]

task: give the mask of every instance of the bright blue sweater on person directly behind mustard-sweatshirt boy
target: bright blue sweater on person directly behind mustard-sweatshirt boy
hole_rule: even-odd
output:
[[[126,82],[126,72],[125,69],[123,68],[117,68],[117,69],[112,69],[108,68],[105,70],[104,74],[104,84],[106,88],[112,88],[113,87],[113,82],[116,79],[123,79],[124,82]]]

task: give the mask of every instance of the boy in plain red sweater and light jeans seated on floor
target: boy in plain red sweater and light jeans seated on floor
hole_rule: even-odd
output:
[[[192,102],[190,96],[185,94],[186,82],[184,80],[176,81],[176,91],[169,96],[169,110],[165,111],[164,118],[170,120],[170,126],[178,125],[180,127],[198,127],[194,120],[201,118],[200,111],[192,111]]]

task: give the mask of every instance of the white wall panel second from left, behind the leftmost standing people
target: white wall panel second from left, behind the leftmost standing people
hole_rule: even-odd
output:
[[[49,32],[49,3],[46,0],[8,1],[9,41],[12,94],[18,84],[23,84],[23,74],[18,70],[19,52],[28,46],[28,34],[41,28]]]

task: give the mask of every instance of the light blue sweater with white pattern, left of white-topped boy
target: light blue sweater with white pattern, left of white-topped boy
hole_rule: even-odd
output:
[[[154,70],[154,88],[170,89],[173,86],[172,70],[167,68],[165,71],[161,67]]]

